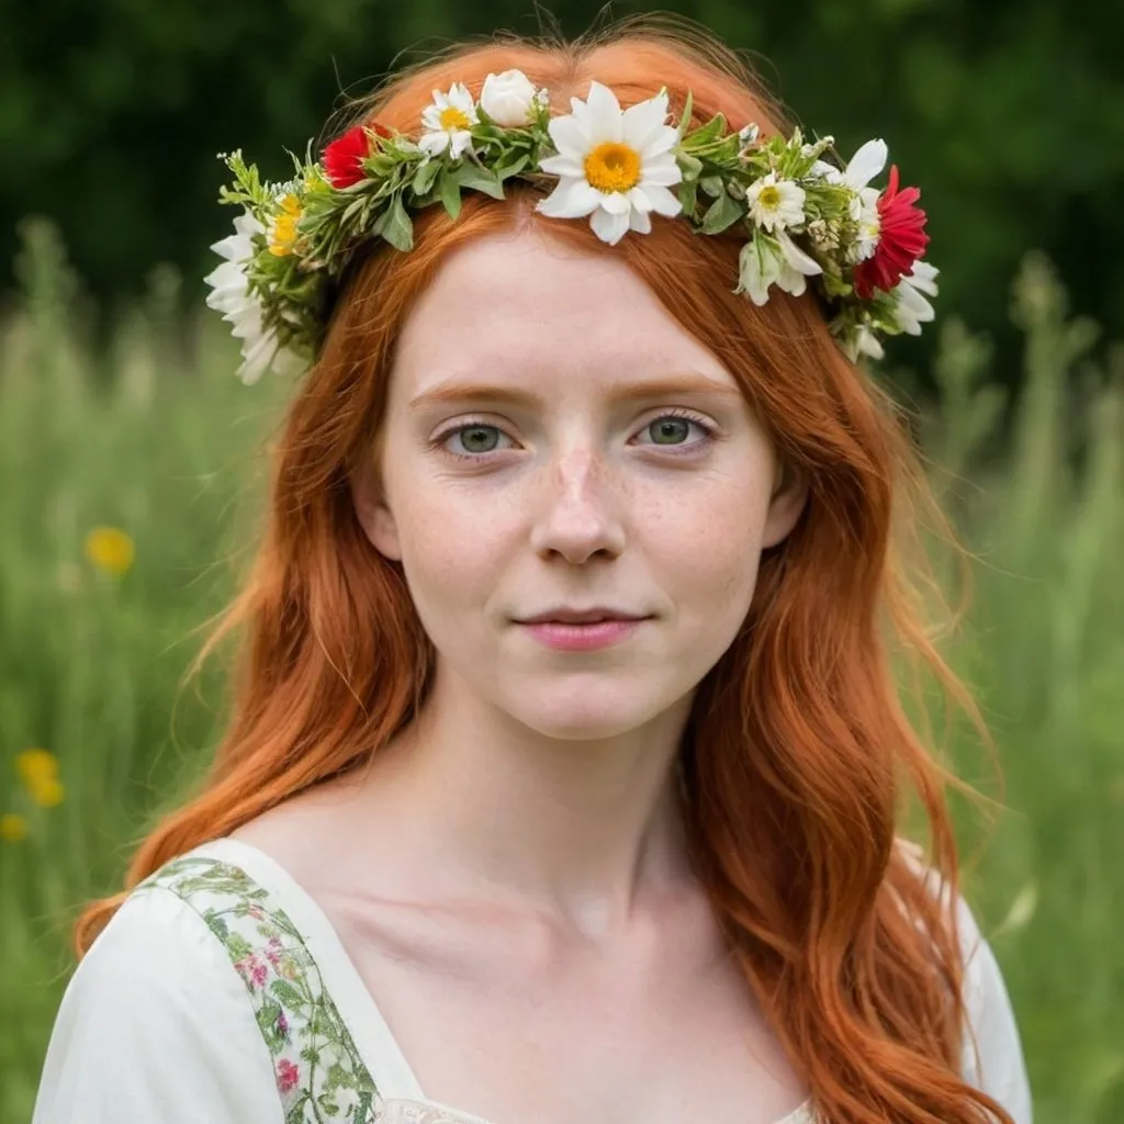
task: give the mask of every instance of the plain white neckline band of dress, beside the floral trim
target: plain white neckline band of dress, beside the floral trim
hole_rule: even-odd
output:
[[[384,1102],[434,1109],[447,1117],[450,1124],[496,1124],[423,1093],[413,1067],[328,915],[277,859],[252,843],[229,836],[203,843],[192,853],[239,867],[277,898],[300,930],[325,988],[347,1024]],[[810,1098],[773,1124],[815,1124]]]

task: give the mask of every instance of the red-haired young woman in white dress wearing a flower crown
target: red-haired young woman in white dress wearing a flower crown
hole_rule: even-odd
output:
[[[886,146],[640,22],[227,160],[209,302],[310,370],[229,728],[79,926],[35,1124],[1030,1124],[890,674],[957,690],[854,362],[932,317]]]

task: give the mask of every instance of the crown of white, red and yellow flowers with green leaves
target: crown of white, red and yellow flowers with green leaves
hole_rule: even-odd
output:
[[[333,140],[319,162],[309,145],[284,183],[263,183],[241,151],[220,153],[235,182],[219,200],[244,210],[211,247],[225,261],[206,278],[207,303],[243,341],[239,378],[315,360],[341,274],[371,239],[409,251],[411,211],[441,203],[455,219],[462,191],[502,199],[511,179],[552,187],[536,209],[588,217],[609,245],[647,234],[653,212],[682,215],[699,234],[736,230],[746,241],[734,291],[764,305],[773,285],[800,296],[813,279],[852,361],[880,359],[879,336],[918,335],[933,319],[937,271],[921,260],[921,192],[899,189],[896,166],[881,192],[868,187],[886,165],[882,140],[840,169],[822,158],[830,136],[761,139],[756,125],[731,132],[722,114],[688,132],[689,93],[678,127],[667,124],[665,89],[622,110],[591,82],[570,105],[552,117],[546,91],[510,70],[489,74],[479,101],[460,82],[434,90],[417,139],[374,123]]]

